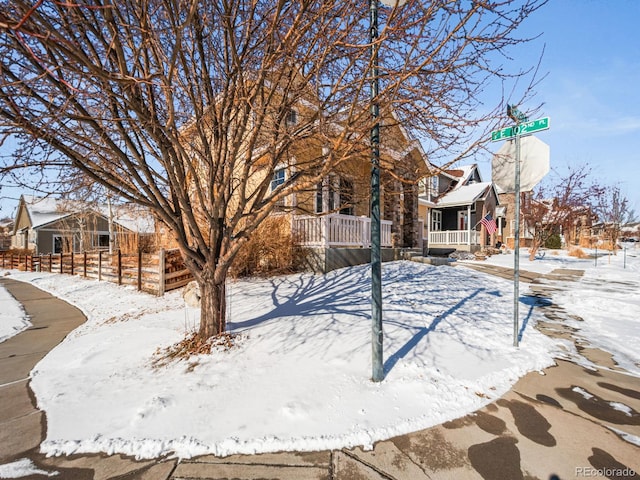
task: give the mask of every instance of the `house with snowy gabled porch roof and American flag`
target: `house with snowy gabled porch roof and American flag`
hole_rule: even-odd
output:
[[[428,249],[469,252],[493,246],[501,233],[504,212],[495,186],[483,182],[477,164],[444,170],[420,183],[420,218]],[[486,215],[498,231],[488,235],[480,221]]]

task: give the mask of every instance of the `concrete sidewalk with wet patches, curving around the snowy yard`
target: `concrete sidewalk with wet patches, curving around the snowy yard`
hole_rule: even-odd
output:
[[[499,275],[508,271],[483,270]],[[508,270],[508,269],[507,269]],[[532,294],[552,298],[553,280],[579,272],[523,275]],[[544,278],[544,284],[537,284]],[[38,445],[46,417],[28,388],[29,371],[84,321],[77,309],[30,284],[0,283],[20,301],[33,327],[0,343],[0,465],[28,458],[59,479],[540,479],[638,478],[640,379],[611,355],[580,344],[598,365],[586,369],[559,360],[543,373],[523,377],[485,408],[427,430],[360,448],[312,453],[234,455],[135,461],[120,455],[46,458]],[[566,312],[544,302],[546,334],[579,343],[563,323]],[[425,405],[428,409],[429,406]],[[34,474],[27,478],[48,478]]]

